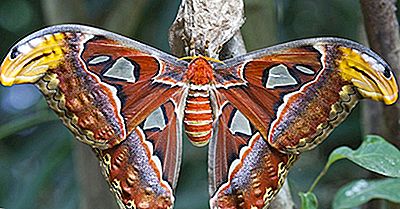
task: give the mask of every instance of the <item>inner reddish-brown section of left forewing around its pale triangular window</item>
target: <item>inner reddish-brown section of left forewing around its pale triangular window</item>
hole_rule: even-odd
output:
[[[128,133],[176,93],[178,87],[171,85],[180,85],[185,70],[102,37],[85,44],[82,58],[102,82],[117,89]],[[94,62],[101,58],[105,61]],[[172,73],[169,80],[160,79]]]

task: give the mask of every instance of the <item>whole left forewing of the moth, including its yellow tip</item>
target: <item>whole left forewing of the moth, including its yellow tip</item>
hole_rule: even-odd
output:
[[[106,149],[181,88],[186,65],[115,33],[60,25],[19,41],[1,82],[35,83],[79,140]]]

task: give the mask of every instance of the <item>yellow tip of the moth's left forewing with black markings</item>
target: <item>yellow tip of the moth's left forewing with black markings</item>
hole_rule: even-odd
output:
[[[1,64],[0,82],[4,86],[35,83],[48,69],[56,68],[63,61],[63,40],[61,33],[22,39]]]

